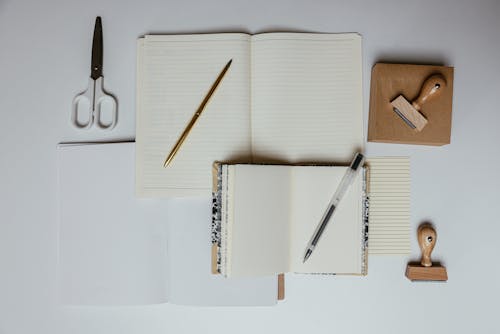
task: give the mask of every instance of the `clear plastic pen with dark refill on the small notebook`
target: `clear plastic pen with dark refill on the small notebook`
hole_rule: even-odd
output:
[[[328,225],[328,222],[333,216],[333,213],[335,212],[335,209],[337,208],[340,200],[342,197],[344,197],[345,192],[351,185],[352,181],[358,174],[358,171],[363,167],[363,163],[365,161],[365,157],[361,153],[356,153],[356,156],[354,156],[354,159],[351,162],[351,165],[349,168],[347,168],[347,171],[344,174],[344,177],[340,181],[340,184],[337,188],[337,191],[335,191],[335,194],[333,194],[332,199],[330,200],[330,203],[328,204],[328,207],[323,214],[323,217],[319,221],[318,226],[316,227],[316,230],[314,231],[314,234],[309,241],[309,244],[307,245],[306,253],[304,255],[304,260],[302,262],[306,262],[307,259],[311,256],[314,248],[316,247],[319,239],[321,238],[321,235],[323,234],[326,226]]]

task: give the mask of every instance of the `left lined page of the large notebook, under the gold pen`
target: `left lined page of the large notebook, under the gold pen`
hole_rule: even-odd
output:
[[[146,36],[138,42],[139,197],[208,196],[215,160],[248,160],[250,37],[245,34]],[[218,75],[231,67],[174,160],[163,167]]]

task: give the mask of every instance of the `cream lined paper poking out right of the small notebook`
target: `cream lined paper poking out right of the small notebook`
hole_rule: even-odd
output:
[[[369,158],[369,254],[410,253],[410,159]]]

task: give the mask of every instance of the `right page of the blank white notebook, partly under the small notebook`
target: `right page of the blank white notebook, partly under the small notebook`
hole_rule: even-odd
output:
[[[170,302],[213,306],[276,304],[276,276],[237,279],[210,273],[210,208],[210,200],[170,202]]]

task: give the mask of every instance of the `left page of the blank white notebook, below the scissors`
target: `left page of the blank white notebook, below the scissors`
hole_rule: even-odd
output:
[[[58,151],[61,302],[166,302],[166,202],[135,198],[134,143]]]

